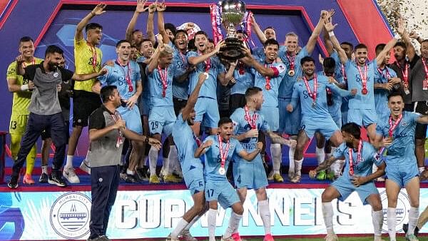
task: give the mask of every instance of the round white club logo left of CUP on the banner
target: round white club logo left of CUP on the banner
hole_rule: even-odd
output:
[[[61,195],[51,207],[51,226],[61,237],[78,239],[89,232],[91,200],[81,193]]]

